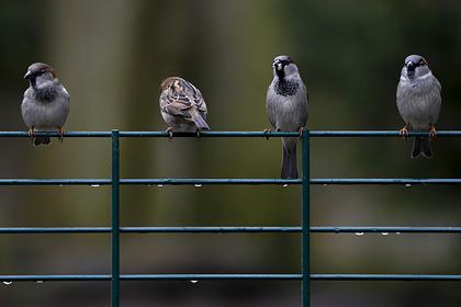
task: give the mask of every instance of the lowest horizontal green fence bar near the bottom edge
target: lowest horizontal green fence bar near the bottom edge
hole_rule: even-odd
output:
[[[461,281],[460,274],[311,274],[312,281]],[[0,275],[0,282],[110,281],[109,274]],[[267,280],[301,281],[301,274],[122,274],[122,281],[218,281]]]

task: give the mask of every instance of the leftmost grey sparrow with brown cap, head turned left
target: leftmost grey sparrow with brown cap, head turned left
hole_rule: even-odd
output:
[[[69,114],[69,93],[57,79],[55,70],[43,62],[31,65],[24,79],[30,86],[24,92],[21,111],[33,145],[50,144],[48,136],[35,136],[35,132],[54,129],[58,130],[63,141],[64,124]]]

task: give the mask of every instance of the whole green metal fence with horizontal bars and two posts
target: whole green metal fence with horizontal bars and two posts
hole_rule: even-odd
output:
[[[57,133],[37,133],[57,137]],[[175,137],[195,137],[191,133],[175,133]],[[262,132],[203,132],[201,137],[299,137],[297,133]],[[398,137],[398,132],[310,132],[302,134],[302,178],[282,179],[121,179],[120,178],[120,138],[121,137],[169,137],[165,132],[69,132],[65,137],[111,138],[112,177],[110,179],[0,179],[0,185],[111,185],[112,221],[111,227],[2,227],[0,234],[111,234],[112,270],[110,274],[74,275],[0,275],[0,281],[9,282],[52,282],[52,281],[111,281],[111,306],[120,305],[121,281],[201,281],[201,280],[285,280],[300,281],[302,284],[302,306],[311,306],[311,281],[461,281],[461,275],[434,274],[314,274],[310,268],[311,232],[432,232],[460,234],[461,227],[311,227],[310,225],[310,186],[316,184],[461,184],[461,179],[311,179],[310,140],[313,137]],[[427,133],[411,133],[412,136],[428,136]],[[438,132],[438,137],[460,137],[461,132]],[[0,137],[27,137],[24,132],[0,132]],[[121,227],[120,226],[120,186],[121,185],[302,185],[302,225],[299,227]],[[120,234],[168,234],[168,232],[301,232],[302,254],[299,274],[121,274],[120,273]]]

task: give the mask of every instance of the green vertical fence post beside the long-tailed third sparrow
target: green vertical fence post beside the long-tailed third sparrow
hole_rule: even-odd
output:
[[[302,211],[302,304],[311,306],[311,204],[310,204],[310,130],[304,129],[302,136],[303,163],[303,211]]]

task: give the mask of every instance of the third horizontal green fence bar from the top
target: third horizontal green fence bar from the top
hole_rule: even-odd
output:
[[[266,227],[121,227],[124,234],[278,234],[299,226]],[[0,227],[0,234],[110,234],[110,227]],[[461,227],[311,227],[316,234],[461,234]]]

